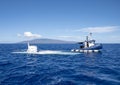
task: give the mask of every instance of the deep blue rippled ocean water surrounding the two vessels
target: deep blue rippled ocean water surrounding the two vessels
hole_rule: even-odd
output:
[[[77,44],[37,44],[69,52]],[[0,85],[120,85],[120,44],[103,44],[100,53],[15,54],[26,44],[0,44]]]

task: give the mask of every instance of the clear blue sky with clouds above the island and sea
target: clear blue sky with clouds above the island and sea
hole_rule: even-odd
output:
[[[0,43],[35,38],[120,43],[120,0],[0,0]]]

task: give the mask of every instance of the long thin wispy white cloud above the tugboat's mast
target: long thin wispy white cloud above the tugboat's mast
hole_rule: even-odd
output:
[[[119,26],[87,27],[87,28],[82,28],[82,29],[76,30],[76,31],[92,32],[92,33],[106,33],[106,32],[113,32],[118,27]]]

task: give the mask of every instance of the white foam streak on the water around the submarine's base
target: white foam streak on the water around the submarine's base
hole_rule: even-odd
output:
[[[63,51],[54,51],[54,50],[41,50],[39,52],[12,52],[12,53],[19,53],[19,54],[41,54],[41,55],[46,55],[46,54],[57,54],[57,55],[76,55],[80,53],[74,53],[74,52],[63,52]]]

